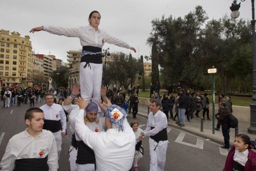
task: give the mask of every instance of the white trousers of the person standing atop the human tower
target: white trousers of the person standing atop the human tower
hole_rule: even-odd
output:
[[[93,99],[98,102],[102,81],[102,63],[90,63],[91,68],[89,65],[83,68],[84,65],[86,65],[86,62],[81,62],[79,69],[81,96],[85,100],[89,100],[93,96]]]

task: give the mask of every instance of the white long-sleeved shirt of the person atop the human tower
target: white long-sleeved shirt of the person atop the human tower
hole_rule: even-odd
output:
[[[116,46],[131,49],[131,46],[126,42],[112,37],[110,34],[103,30],[94,30],[92,26],[81,26],[78,28],[63,28],[55,26],[44,26],[44,31],[52,34],[64,35],[67,37],[78,37],[80,39],[81,46],[94,46],[102,48],[105,42],[114,44]]]

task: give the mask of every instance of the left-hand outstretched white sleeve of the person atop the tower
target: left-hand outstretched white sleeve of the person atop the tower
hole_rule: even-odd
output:
[[[80,37],[81,35],[81,27],[79,28],[63,28],[63,27],[56,27],[56,26],[44,26],[44,31],[47,31],[52,34],[57,34],[60,36],[67,36],[67,37]]]

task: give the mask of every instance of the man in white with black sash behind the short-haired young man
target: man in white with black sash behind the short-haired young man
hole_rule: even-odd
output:
[[[66,136],[67,120],[65,112],[61,105],[53,103],[54,96],[51,93],[45,95],[46,104],[42,105],[40,109],[45,114],[45,124],[43,129],[49,130],[53,133],[56,144],[58,157],[61,152],[62,137]]]

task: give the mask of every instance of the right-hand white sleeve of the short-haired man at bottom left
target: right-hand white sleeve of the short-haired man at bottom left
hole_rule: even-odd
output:
[[[52,134],[49,138],[51,142],[51,147],[49,149],[48,154],[48,161],[47,164],[49,165],[49,171],[57,171],[58,169],[58,152],[57,152],[57,145],[54,138],[54,135]]]

